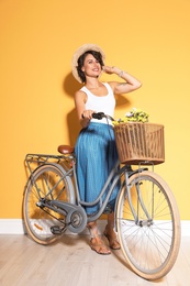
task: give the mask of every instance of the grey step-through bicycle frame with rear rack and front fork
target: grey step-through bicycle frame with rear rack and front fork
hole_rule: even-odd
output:
[[[55,162],[53,163],[52,161],[55,161]],[[100,216],[104,212],[104,209],[105,209],[105,207],[109,202],[109,198],[110,198],[114,187],[121,180],[121,176],[124,174],[128,204],[131,206],[131,209],[133,211],[133,216],[134,216],[135,221],[137,223],[137,215],[135,213],[134,208],[133,208],[127,180],[128,180],[130,176],[132,176],[133,174],[135,174],[137,172],[143,170],[144,168],[138,168],[136,170],[132,170],[131,166],[128,166],[128,165],[123,165],[122,167],[120,167],[120,161],[118,161],[115,163],[115,165],[113,166],[113,168],[111,169],[109,177],[108,177],[103,188],[101,189],[99,196],[97,197],[97,199],[94,201],[87,202],[87,201],[82,201],[81,198],[80,198],[80,193],[79,193],[79,187],[78,187],[78,182],[77,182],[75,154],[69,154],[68,156],[66,156],[66,155],[60,155],[60,156],[59,155],[46,155],[46,154],[27,154],[26,157],[25,157],[25,163],[26,163],[26,166],[27,166],[30,174],[31,174],[30,175],[31,180],[33,179],[34,170],[36,169],[36,168],[32,169],[31,163],[36,163],[37,166],[41,166],[43,164],[44,165],[45,164],[54,164],[54,165],[57,165],[57,166],[64,166],[64,169],[66,172],[63,175],[63,177],[60,178],[60,180],[66,178],[66,177],[74,177],[72,188],[74,188],[75,194],[76,194],[76,197],[75,197],[76,206],[93,207],[97,204],[100,205],[98,211],[87,218],[88,222],[98,220],[100,218]],[[108,193],[107,193],[107,195],[103,199],[103,196],[104,196],[109,185],[110,185],[109,190],[108,190]],[[71,187],[71,186],[69,186],[69,187]],[[121,184],[120,191],[121,191],[122,187],[123,187],[123,185]],[[35,188],[37,189],[37,186],[35,186]],[[116,200],[118,200],[118,197],[120,195],[120,191],[118,193]],[[51,193],[51,190],[49,190],[49,193]],[[141,198],[141,195],[139,195],[139,198]],[[142,201],[142,205],[143,205],[143,201]],[[67,202],[64,202],[64,206],[65,206],[66,209],[69,208],[69,204],[67,204]],[[51,208],[54,209],[54,207],[51,207]],[[146,209],[145,209],[145,211],[146,211]]]

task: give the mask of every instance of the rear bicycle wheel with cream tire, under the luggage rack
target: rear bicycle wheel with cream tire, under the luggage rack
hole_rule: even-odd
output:
[[[40,166],[27,182],[23,198],[23,219],[27,233],[40,244],[51,244],[60,235],[54,234],[51,227],[65,227],[65,216],[46,207],[41,200],[62,200],[74,202],[69,189],[70,178],[64,177],[64,170],[56,165]]]

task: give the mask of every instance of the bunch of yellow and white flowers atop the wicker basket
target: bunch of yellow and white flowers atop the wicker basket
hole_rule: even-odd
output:
[[[123,118],[120,118],[113,121],[113,125],[120,123],[127,123],[127,122],[148,122],[149,114],[141,109],[133,108],[131,111],[126,112]]]

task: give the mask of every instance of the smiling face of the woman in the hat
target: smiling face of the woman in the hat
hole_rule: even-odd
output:
[[[98,78],[101,74],[101,65],[98,59],[94,58],[91,54],[88,54],[83,61],[83,66],[81,70],[87,77]]]

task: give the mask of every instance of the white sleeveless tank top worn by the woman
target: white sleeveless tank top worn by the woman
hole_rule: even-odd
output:
[[[96,112],[104,112],[110,117],[114,117],[114,108],[115,108],[115,98],[113,95],[113,90],[111,89],[108,82],[102,82],[105,88],[108,89],[108,95],[103,97],[94,96],[88,88],[82,87],[80,90],[86,92],[87,95],[87,102],[86,109],[94,110]],[[99,123],[108,123],[107,119],[103,118],[102,120],[91,119],[91,122],[99,122]],[[109,120],[111,124],[111,121]]]

